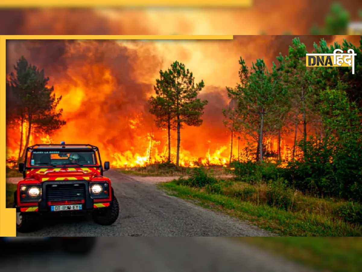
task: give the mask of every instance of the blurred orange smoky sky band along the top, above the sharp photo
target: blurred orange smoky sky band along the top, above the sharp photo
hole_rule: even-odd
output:
[[[308,34],[335,0],[254,0],[250,8],[0,10],[0,34]],[[360,0],[344,0],[357,20]],[[333,33],[332,33],[333,34]]]

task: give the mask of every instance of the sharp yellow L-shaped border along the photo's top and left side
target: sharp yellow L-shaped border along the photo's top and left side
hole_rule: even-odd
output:
[[[20,1],[21,2],[21,1]],[[16,236],[16,213],[6,209],[6,41],[7,40],[232,40],[232,35],[3,35],[0,36],[0,236]]]

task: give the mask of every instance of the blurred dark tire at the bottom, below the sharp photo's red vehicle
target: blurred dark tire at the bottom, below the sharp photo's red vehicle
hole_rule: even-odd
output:
[[[71,237],[61,240],[62,249],[75,255],[87,255],[93,250],[95,244],[96,237]]]

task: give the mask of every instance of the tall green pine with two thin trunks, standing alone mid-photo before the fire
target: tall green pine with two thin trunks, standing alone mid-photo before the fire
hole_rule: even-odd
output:
[[[156,117],[156,125],[168,130],[168,161],[170,161],[170,130],[177,130],[176,165],[179,165],[180,130],[183,124],[200,126],[201,116],[207,100],[201,101],[197,95],[204,87],[204,82],[194,82],[193,73],[185,65],[175,61],[166,71],[160,71],[156,80],[156,96],[151,96],[151,114]]]

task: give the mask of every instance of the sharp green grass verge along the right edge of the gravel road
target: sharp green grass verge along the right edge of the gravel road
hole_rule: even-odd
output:
[[[243,200],[240,195],[232,197],[210,193],[205,188],[193,188],[180,183],[182,180],[181,182],[174,180],[160,183],[158,186],[171,195],[198,200],[198,205],[247,220],[280,236],[362,236],[361,226],[350,224],[332,215],[302,210],[288,211],[270,206],[270,204],[262,202],[260,196],[263,189],[259,191],[259,194],[255,189],[252,196],[248,195],[250,199],[256,195],[258,203],[253,203],[252,200]],[[235,186],[230,181],[219,184],[222,183],[228,187]]]

